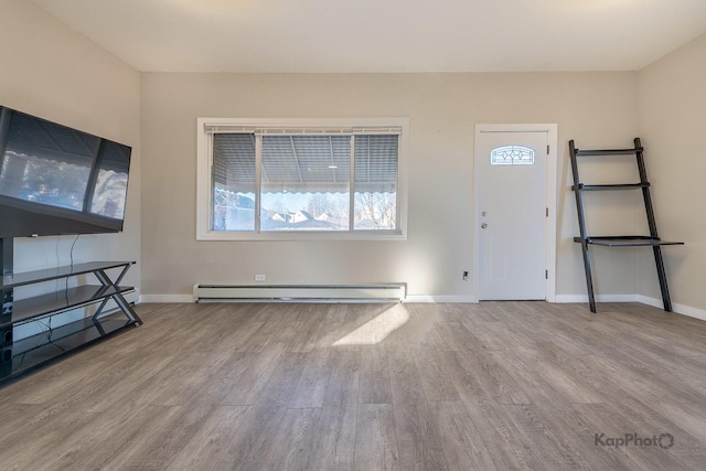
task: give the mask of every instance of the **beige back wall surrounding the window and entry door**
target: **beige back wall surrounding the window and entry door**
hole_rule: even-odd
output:
[[[461,271],[474,272],[474,125],[556,122],[557,293],[585,296],[567,141],[630,144],[635,89],[634,73],[142,74],[142,292],[189,295],[195,282],[265,274],[272,283],[406,281],[413,296],[471,298]],[[410,119],[407,240],[195,240],[197,117],[399,116]],[[609,203],[602,218],[634,232],[634,199]],[[597,254],[596,265],[602,293],[635,292],[634,251]]]

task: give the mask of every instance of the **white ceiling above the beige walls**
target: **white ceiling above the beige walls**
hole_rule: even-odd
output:
[[[142,72],[635,71],[706,33],[706,0],[32,1]]]

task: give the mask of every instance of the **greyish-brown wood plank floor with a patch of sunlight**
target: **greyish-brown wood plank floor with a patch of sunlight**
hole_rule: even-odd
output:
[[[0,389],[0,469],[706,469],[706,322],[545,302],[137,311]],[[601,445],[625,433],[674,443]]]

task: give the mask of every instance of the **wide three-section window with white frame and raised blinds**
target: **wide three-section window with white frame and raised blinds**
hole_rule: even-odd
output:
[[[258,121],[199,119],[199,239],[405,237],[406,119]]]

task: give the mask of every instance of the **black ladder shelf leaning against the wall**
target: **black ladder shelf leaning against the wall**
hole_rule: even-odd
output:
[[[662,240],[657,235],[657,225],[654,220],[654,211],[652,200],[650,197],[650,182],[644,168],[644,158],[642,143],[640,138],[634,139],[633,149],[603,149],[603,150],[580,150],[574,144],[574,140],[569,141],[569,156],[571,158],[571,174],[574,175],[574,194],[576,195],[576,212],[578,214],[578,225],[581,233],[580,237],[574,237],[574,242],[581,244],[584,254],[584,268],[586,269],[586,286],[588,288],[588,302],[591,312],[596,312],[596,299],[593,295],[593,281],[591,276],[591,261],[588,247],[590,245],[599,245],[606,247],[652,247],[654,253],[654,263],[656,265],[657,278],[660,279],[660,289],[662,290],[662,302],[664,310],[672,311],[672,301],[670,300],[670,290],[666,285],[666,275],[664,271],[664,261],[662,259],[663,245],[684,245],[683,242]],[[634,156],[638,161],[638,170],[640,172],[639,183],[621,183],[621,184],[584,184],[578,176],[578,157],[582,156]],[[586,216],[584,214],[584,192],[586,191],[613,191],[613,190],[642,190],[642,199],[644,200],[644,210],[648,216],[648,226],[650,235],[621,235],[621,236],[589,236],[586,232]]]

